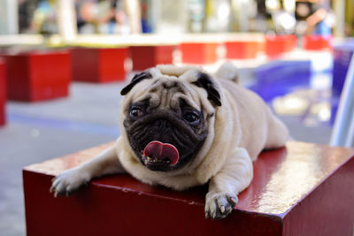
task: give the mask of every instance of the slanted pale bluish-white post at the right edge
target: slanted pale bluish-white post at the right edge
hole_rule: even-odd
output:
[[[354,147],[354,57],[342,88],[330,145]]]

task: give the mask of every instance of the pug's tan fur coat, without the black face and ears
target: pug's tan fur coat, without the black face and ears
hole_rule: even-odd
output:
[[[264,148],[283,146],[289,133],[258,95],[231,80],[215,80],[222,105],[213,105],[204,88],[191,84],[202,71],[200,67],[173,65],[150,69],[152,79],[137,83],[120,104],[121,136],[117,140],[114,155],[109,152],[109,155],[97,157],[96,161],[78,167],[74,173],[69,171],[59,175],[52,187],[55,194],[62,194],[73,185],[77,187],[80,182],[77,176],[85,176],[81,179],[86,181],[88,176],[94,178],[111,173],[112,168],[106,165],[118,157],[121,165],[116,172],[127,171],[136,179],[151,185],[159,184],[181,190],[209,181],[209,193],[205,200],[206,217],[226,217],[237,202],[236,195],[250,184],[252,161],[257,159]],[[173,87],[176,83],[178,87]],[[170,86],[171,89],[166,89]],[[204,110],[208,136],[195,158],[180,169],[150,171],[140,163],[129,145],[123,120],[130,103],[147,97],[151,97],[150,103],[156,103],[162,110],[178,105],[181,97],[197,110]],[[94,166],[97,164],[101,165],[100,168]],[[93,174],[97,169],[102,171]]]

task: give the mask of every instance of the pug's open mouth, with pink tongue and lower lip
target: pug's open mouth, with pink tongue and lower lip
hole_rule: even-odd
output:
[[[158,170],[178,163],[178,149],[170,143],[150,141],[142,153],[142,162],[148,168]]]

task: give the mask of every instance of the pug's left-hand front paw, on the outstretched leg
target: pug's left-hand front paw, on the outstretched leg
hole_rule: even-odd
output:
[[[50,193],[54,193],[55,197],[58,195],[69,196],[76,192],[81,186],[88,184],[89,180],[89,173],[79,168],[64,171],[52,180]]]

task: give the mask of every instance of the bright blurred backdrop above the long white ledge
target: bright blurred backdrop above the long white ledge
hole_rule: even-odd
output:
[[[320,25],[350,36],[352,9],[350,0],[2,0],[0,33],[309,34]]]

